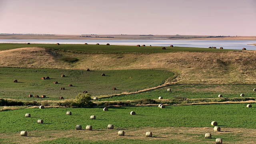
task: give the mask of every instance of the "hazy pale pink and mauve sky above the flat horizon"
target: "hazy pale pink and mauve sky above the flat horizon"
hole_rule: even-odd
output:
[[[0,33],[256,36],[256,0],[0,0]]]

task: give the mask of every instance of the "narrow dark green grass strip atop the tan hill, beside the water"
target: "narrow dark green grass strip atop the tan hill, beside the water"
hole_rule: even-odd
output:
[[[212,49],[212,48],[189,48],[189,47],[166,47],[166,50],[162,50],[162,46],[106,46],[106,45],[84,45],[84,44],[0,44],[0,50],[10,50],[15,48],[26,47],[41,47],[51,50],[64,50],[64,51],[78,51],[94,54],[116,54],[116,53],[163,53],[163,52],[226,52],[236,51],[228,49]]]

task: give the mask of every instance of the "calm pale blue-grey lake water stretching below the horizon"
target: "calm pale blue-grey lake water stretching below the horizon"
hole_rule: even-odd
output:
[[[146,46],[182,46],[182,47],[197,47],[208,48],[209,46],[215,46],[217,48],[223,47],[224,49],[236,49],[241,50],[246,48],[247,50],[256,50],[256,46],[248,45],[255,44],[255,40],[0,40],[0,43],[40,43],[40,44],[96,44],[105,45],[143,45]]]

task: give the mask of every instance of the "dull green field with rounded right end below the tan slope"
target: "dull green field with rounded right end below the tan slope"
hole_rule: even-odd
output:
[[[101,76],[104,73],[106,76]],[[65,74],[66,77],[61,77]],[[57,100],[75,98],[84,90],[92,96],[141,90],[164,83],[172,72],[165,70],[62,70],[37,68],[0,68],[0,98],[16,100]],[[50,80],[41,80],[49,76]],[[18,83],[13,80],[17,79]],[[59,84],[54,84],[57,81]],[[72,87],[68,85],[72,84]],[[64,87],[65,90],[60,90]],[[117,90],[112,90],[112,87]],[[46,95],[48,98],[29,98]]]

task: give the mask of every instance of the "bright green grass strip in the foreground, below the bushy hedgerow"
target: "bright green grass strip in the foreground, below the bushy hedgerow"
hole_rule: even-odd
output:
[[[112,107],[103,108],[26,108],[0,112],[0,132],[10,133],[22,130],[72,130],[76,124],[91,125],[93,129],[106,129],[108,124],[114,128],[142,127],[212,127],[217,121],[221,128],[256,128],[255,104],[246,108],[246,104],[212,104],[194,106],[158,106]],[[66,115],[71,111],[72,115]],[[136,115],[130,115],[130,112]],[[26,118],[25,114],[31,117]],[[96,120],[90,120],[95,115]],[[44,124],[37,124],[42,119]]]

